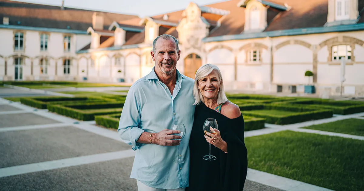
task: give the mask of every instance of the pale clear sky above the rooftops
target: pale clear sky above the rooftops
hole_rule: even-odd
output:
[[[27,3],[62,5],[62,0],[16,0]],[[124,13],[139,17],[159,15],[185,9],[190,2],[199,6],[226,0],[65,0],[64,7]]]

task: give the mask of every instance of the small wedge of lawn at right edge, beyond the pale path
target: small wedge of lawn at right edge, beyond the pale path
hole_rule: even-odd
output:
[[[364,119],[344,119],[336,122],[312,125],[304,128],[364,136]]]

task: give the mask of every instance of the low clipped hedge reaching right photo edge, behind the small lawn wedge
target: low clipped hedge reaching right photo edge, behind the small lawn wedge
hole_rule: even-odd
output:
[[[292,104],[294,106],[314,108],[316,110],[332,110],[334,114],[339,115],[348,115],[364,112],[364,103],[357,101],[296,100],[286,103]]]

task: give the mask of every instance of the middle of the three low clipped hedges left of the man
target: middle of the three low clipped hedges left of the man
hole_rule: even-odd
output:
[[[121,111],[123,110],[123,108],[118,108],[116,106],[120,106],[123,105],[123,102],[107,102],[108,104],[108,108],[114,108],[114,110],[103,110],[100,109],[98,111],[87,111],[87,110],[79,110],[79,109],[75,109],[72,107],[81,107],[82,108],[82,104],[70,104],[70,105],[52,105],[52,104],[48,104],[47,108],[48,111],[50,112],[55,112],[57,114],[60,115],[64,115],[70,118],[74,118],[74,119],[78,119],[78,120],[83,120],[83,121],[89,121],[89,120],[94,120],[96,115],[108,115],[108,114],[116,114],[116,113],[121,113]],[[93,109],[98,109],[96,107],[102,107],[102,104],[99,103],[87,103],[87,104],[83,104],[84,107],[83,108],[92,108],[92,106],[94,106]],[[110,106],[114,106],[114,107],[110,107]]]

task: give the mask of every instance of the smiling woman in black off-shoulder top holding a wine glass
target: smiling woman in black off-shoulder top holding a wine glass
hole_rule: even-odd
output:
[[[219,68],[200,67],[193,94],[196,105],[190,137],[190,184],[186,191],[242,191],[248,170],[244,119],[236,104],[227,100]],[[207,118],[216,119],[216,135],[203,131]],[[210,136],[210,137],[209,137]],[[215,160],[202,157],[209,154]]]

